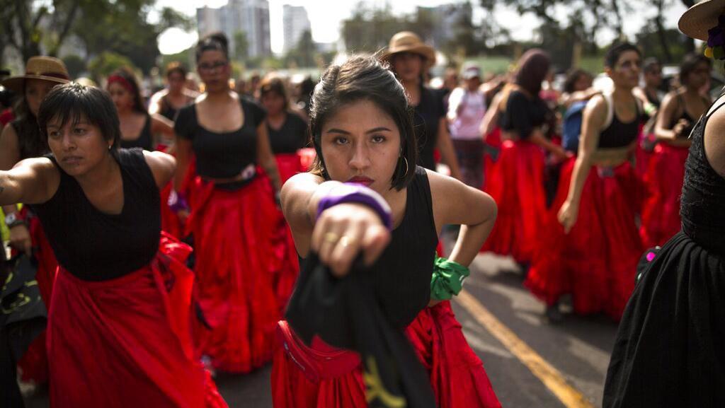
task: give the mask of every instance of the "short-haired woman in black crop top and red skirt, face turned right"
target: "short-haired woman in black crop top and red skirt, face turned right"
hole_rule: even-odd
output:
[[[579,154],[562,168],[525,282],[547,304],[550,320],[561,319],[558,301],[566,293],[576,314],[605,312],[619,320],[634,288],[634,268],[644,250],[636,225],[639,186],[630,162],[642,112],[632,95],[640,58],[629,43],[609,49],[605,71],[614,91],[589,101]]]

